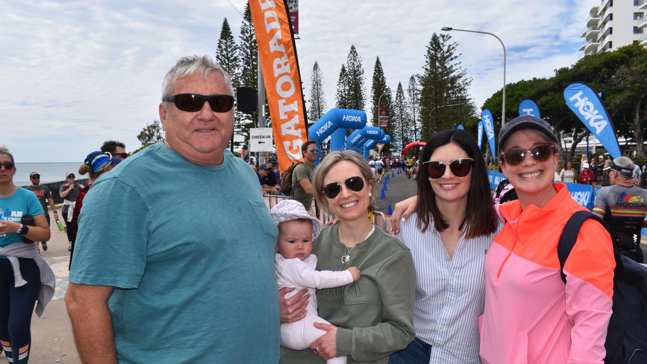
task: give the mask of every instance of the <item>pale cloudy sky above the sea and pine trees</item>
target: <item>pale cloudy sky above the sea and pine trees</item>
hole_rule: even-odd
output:
[[[223,18],[237,39],[245,1],[0,0],[0,144],[18,162],[76,162],[107,139],[140,146],[160,84],[177,58],[215,54]],[[389,86],[421,73],[426,45],[443,26],[497,34],[507,47],[507,81],[551,76],[575,63],[588,10],[599,0],[300,1],[297,40],[305,92],[314,62],[334,106],[351,44],[370,91],[375,57]],[[501,45],[452,32],[472,76],[477,106],[503,84]]]

